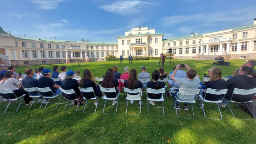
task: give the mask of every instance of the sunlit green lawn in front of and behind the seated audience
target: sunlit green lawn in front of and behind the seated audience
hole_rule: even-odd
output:
[[[174,64],[166,61],[165,71],[171,72]],[[222,69],[222,76],[232,75],[233,71],[241,66],[244,60],[231,60],[231,66],[218,66]],[[207,74],[207,69],[212,66],[212,61],[196,60],[175,60],[175,63],[187,63],[194,68],[202,81],[203,74]],[[85,68],[90,69],[94,77],[101,77],[106,69],[118,65],[118,72],[123,73],[123,68],[129,66],[130,69],[147,67],[147,72],[152,73],[158,69],[158,61],[133,61],[133,64],[123,62],[89,62],[75,64],[59,64],[67,66],[67,70],[80,70],[83,73]],[[161,64],[160,64],[161,65]],[[53,65],[44,65],[44,68],[52,69]],[[31,66],[38,68],[39,66]],[[16,67],[16,72],[24,72],[27,67]],[[256,143],[256,120],[244,120],[242,118],[252,118],[246,112],[236,108],[234,104],[231,109],[234,114],[241,119],[234,119],[231,112],[221,108],[223,120],[207,120],[202,110],[197,104],[194,105],[195,119],[179,119],[175,110],[172,108],[173,100],[170,98],[164,101],[164,117],[148,116],[146,94],[143,95],[142,112],[139,116],[126,115],[126,100],[120,95],[116,115],[105,115],[102,113],[103,107],[98,107],[95,114],[84,114],[84,107],[79,107],[77,113],[65,113],[64,104],[60,104],[57,110],[51,104],[47,110],[39,108],[39,104],[34,104],[32,108],[20,107],[17,113],[5,114],[6,102],[0,103],[0,144],[45,144],[45,143],[161,143],[173,144],[191,143]],[[101,105],[103,100],[100,99]],[[91,101],[91,104],[92,101]],[[110,104],[110,103],[109,103]],[[128,103],[129,104],[129,103]],[[155,102],[156,106],[161,106],[160,102]],[[111,105],[111,104],[110,104]],[[129,106],[132,106],[131,104]],[[133,106],[139,106],[138,101],[134,101]],[[182,106],[183,107],[183,106]],[[191,107],[191,106],[190,106]],[[90,111],[93,111],[90,108]],[[218,111],[214,104],[205,104],[207,116],[219,118]],[[10,110],[15,110],[14,106]],[[69,106],[68,110],[75,110],[74,106]],[[88,111],[89,111],[88,110]],[[107,109],[113,112],[113,109]],[[128,112],[138,114],[138,109],[130,108]],[[161,114],[160,109],[150,109],[151,114]],[[178,111],[179,116],[192,117],[192,111]]]

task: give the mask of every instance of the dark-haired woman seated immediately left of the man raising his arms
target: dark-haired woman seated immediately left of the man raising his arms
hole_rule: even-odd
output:
[[[165,84],[163,82],[158,82],[158,79],[160,78],[160,72],[158,70],[155,70],[152,73],[152,79],[153,81],[148,82],[147,87],[152,89],[160,89],[164,88]],[[162,97],[162,94],[152,94],[148,93],[148,97],[151,99],[160,99]],[[149,103],[153,106],[155,106],[154,101],[149,101]]]

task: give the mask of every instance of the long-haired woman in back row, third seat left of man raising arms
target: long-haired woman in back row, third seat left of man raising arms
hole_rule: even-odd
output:
[[[103,81],[101,82],[101,86],[104,88],[115,88],[116,92],[105,92],[105,94],[108,95],[108,98],[116,97],[118,95],[118,80],[113,78],[114,77],[114,72],[112,68],[108,68],[107,72],[104,76]],[[118,101],[113,100],[112,105],[114,106]]]

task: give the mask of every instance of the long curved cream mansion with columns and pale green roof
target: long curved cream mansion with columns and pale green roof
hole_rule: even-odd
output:
[[[138,27],[117,37],[118,43],[104,43],[13,36],[0,29],[0,54],[9,56],[14,66],[105,61],[108,54],[159,57],[169,51],[174,59],[256,58],[256,19],[250,25],[207,34],[163,36],[155,34],[155,29]]]

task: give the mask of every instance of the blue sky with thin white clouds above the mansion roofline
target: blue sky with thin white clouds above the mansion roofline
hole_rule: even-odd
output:
[[[0,0],[0,26],[11,34],[117,42],[134,27],[164,38],[253,24],[256,0]]]

